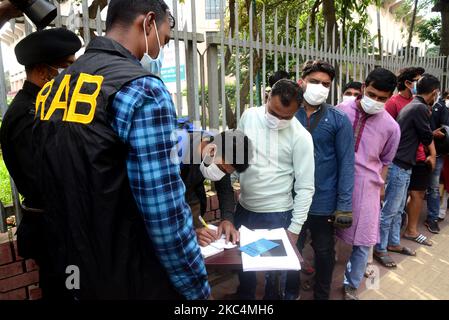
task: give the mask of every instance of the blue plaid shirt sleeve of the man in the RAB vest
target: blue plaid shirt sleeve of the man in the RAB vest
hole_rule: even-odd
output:
[[[210,286],[192,213],[179,165],[170,160],[177,142],[170,93],[159,79],[139,78],[116,94],[110,115],[113,129],[129,147],[131,189],[162,265],[187,299],[206,299]]]

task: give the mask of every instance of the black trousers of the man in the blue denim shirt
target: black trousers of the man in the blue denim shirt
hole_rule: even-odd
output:
[[[330,216],[308,216],[304,223],[297,247],[302,254],[307,230],[312,236],[312,248],[315,253],[315,286],[314,299],[328,300],[332,283],[332,273],[335,266],[335,229]],[[298,295],[300,288],[300,272],[289,271],[287,273],[286,294]]]

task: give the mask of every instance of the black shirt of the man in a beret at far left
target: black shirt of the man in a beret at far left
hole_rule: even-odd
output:
[[[0,143],[9,174],[14,179],[24,203],[41,208],[41,197],[35,185],[35,166],[31,145],[35,103],[41,88],[25,81],[3,117]]]

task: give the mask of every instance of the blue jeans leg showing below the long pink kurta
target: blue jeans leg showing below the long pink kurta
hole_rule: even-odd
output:
[[[350,285],[358,289],[363,280],[368,262],[370,247],[353,246],[351,257],[346,265],[345,278],[343,284]]]

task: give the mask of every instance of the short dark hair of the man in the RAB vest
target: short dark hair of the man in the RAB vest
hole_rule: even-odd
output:
[[[106,31],[120,24],[130,25],[137,16],[153,11],[156,24],[159,25],[168,13],[168,6],[163,0],[111,0],[106,17]]]

